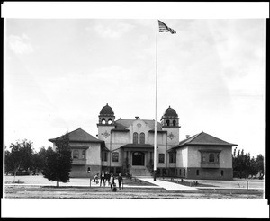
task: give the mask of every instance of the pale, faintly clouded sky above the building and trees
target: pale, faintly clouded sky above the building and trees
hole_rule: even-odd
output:
[[[176,34],[156,19],[5,19],[4,146],[95,137],[106,103],[155,119],[157,65],[157,120],[175,109],[180,140],[203,131],[265,155],[266,20],[159,19]]]

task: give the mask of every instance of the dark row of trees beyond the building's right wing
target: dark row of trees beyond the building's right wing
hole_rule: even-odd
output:
[[[264,156],[257,155],[251,157],[250,154],[245,154],[244,150],[238,150],[237,147],[232,155],[233,176],[238,178],[254,177],[259,173],[259,176],[264,175]]]

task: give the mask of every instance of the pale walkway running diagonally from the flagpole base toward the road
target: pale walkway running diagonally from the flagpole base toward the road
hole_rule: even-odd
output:
[[[164,188],[166,190],[181,190],[181,191],[201,191],[194,187],[188,187],[184,186],[175,182],[171,181],[161,181],[159,179],[156,179],[154,181],[153,177],[136,177],[141,181],[148,181],[150,183],[156,184],[157,186]]]

